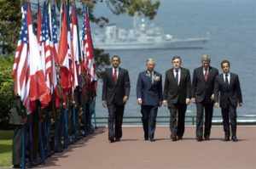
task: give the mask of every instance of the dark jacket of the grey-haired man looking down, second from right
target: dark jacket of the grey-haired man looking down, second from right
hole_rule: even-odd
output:
[[[196,102],[202,102],[206,99],[208,103],[213,103],[214,101],[211,99],[211,96],[216,76],[218,76],[218,70],[210,66],[206,81],[203,67],[195,68],[191,87],[191,98],[195,98]]]

